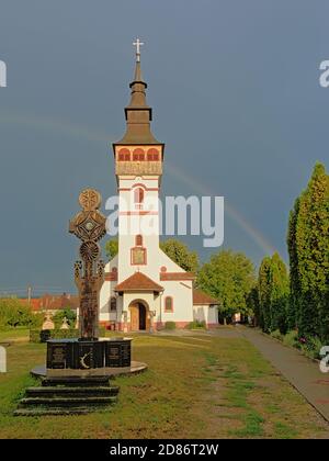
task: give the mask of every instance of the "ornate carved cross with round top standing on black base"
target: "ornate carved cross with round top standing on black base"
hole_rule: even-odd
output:
[[[100,260],[101,248],[98,241],[106,234],[106,217],[99,211],[101,202],[98,191],[82,191],[79,195],[82,211],[69,224],[69,232],[82,241],[82,261],[75,263],[75,281],[80,301],[80,338],[86,340],[99,337],[99,299],[104,282],[104,263]]]

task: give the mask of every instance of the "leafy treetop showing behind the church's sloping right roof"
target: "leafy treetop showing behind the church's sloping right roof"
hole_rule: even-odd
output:
[[[188,272],[196,272],[198,268],[198,256],[196,251],[191,251],[185,244],[175,238],[160,243],[160,248],[177,265]]]

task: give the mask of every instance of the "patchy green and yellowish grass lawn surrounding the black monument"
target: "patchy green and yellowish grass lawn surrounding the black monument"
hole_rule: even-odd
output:
[[[245,339],[140,335],[133,350],[149,370],[115,380],[118,403],[109,412],[13,417],[24,387],[34,383],[31,368],[45,360],[45,345],[13,344],[9,372],[0,375],[0,437],[329,437],[328,425]]]

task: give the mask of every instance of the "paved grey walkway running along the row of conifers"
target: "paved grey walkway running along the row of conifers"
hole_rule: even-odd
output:
[[[236,329],[329,421],[329,373],[321,373],[318,363],[257,329]]]

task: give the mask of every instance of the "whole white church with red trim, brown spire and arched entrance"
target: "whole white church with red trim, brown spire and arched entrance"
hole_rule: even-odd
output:
[[[164,144],[150,130],[152,110],[146,102],[138,40],[136,45],[132,97],[125,108],[126,133],[113,144],[120,199],[118,254],[105,267],[100,323],[120,331],[154,331],[166,322],[184,328],[196,319],[214,327],[218,324],[218,301],[195,290],[194,274],[180,268],[159,246],[158,196]],[[145,218],[152,220],[157,232],[143,231]]]

